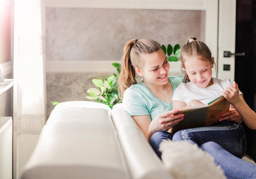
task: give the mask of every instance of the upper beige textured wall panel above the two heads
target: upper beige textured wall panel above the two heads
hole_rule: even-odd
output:
[[[120,60],[130,39],[204,40],[204,11],[46,8],[46,60]]]

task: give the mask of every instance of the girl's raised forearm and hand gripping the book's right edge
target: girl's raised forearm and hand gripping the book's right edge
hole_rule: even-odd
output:
[[[246,104],[243,95],[239,95],[239,88],[236,82],[234,82],[234,86],[227,87],[222,95],[240,113],[246,125],[251,129],[256,129],[256,113]]]

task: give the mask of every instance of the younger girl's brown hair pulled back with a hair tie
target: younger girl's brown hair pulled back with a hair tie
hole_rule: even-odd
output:
[[[180,60],[184,69],[184,62],[193,55],[200,56],[200,60],[208,60],[210,63],[214,63],[209,47],[204,42],[197,40],[195,37],[190,37],[188,40],[186,40],[186,44],[183,45],[183,48],[180,50]],[[189,75],[185,74],[183,81],[185,83],[189,82]]]

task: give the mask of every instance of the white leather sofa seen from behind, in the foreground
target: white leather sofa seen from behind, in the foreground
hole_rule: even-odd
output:
[[[21,178],[172,179],[122,104],[91,101],[55,107]]]

